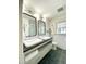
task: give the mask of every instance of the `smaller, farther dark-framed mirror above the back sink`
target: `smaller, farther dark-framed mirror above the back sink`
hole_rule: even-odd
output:
[[[38,21],[38,34],[46,35],[46,24],[41,20]]]

